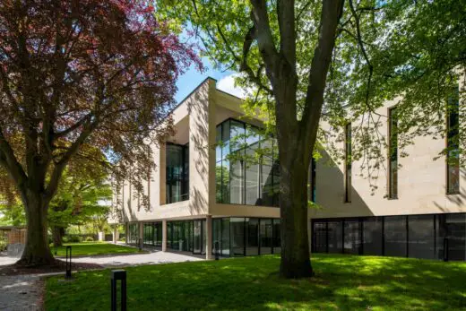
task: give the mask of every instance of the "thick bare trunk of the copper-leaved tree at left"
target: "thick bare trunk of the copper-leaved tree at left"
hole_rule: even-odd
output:
[[[16,264],[22,266],[54,264],[55,258],[50,252],[47,239],[48,202],[43,201],[42,194],[34,194],[30,191],[22,201],[26,210],[28,234],[22,257]]]

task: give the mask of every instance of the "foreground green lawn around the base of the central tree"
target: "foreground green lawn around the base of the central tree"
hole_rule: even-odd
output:
[[[466,310],[466,263],[314,255],[315,277],[283,280],[274,255],[126,269],[129,310]],[[47,279],[47,310],[107,310],[110,271]]]

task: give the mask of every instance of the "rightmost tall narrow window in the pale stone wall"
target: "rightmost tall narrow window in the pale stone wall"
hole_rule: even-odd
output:
[[[447,101],[446,120],[446,193],[460,193],[460,101],[458,89]]]

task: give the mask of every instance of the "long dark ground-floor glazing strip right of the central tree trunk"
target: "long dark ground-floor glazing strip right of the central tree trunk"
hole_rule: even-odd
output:
[[[312,251],[466,260],[466,213],[312,220]]]

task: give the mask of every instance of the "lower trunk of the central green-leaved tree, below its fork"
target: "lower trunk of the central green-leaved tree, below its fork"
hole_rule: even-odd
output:
[[[299,151],[297,140],[288,145],[293,151]],[[296,154],[290,150],[289,153]],[[280,275],[289,279],[313,275],[307,238],[308,163],[300,159],[302,158],[291,156],[280,163]]]

